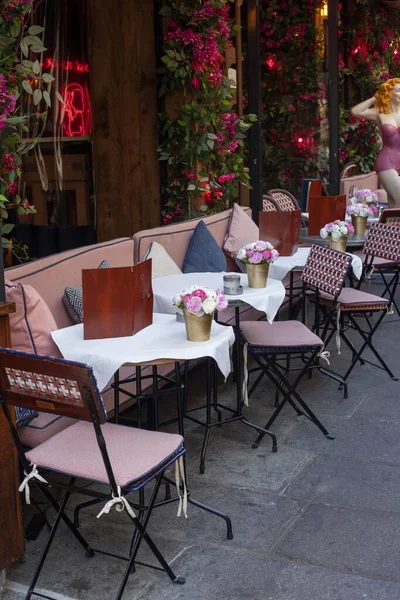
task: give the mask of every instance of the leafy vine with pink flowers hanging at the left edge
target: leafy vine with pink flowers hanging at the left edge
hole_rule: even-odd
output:
[[[18,214],[35,212],[18,194],[18,182],[22,156],[34,148],[43,132],[54,81],[42,71],[36,58],[46,50],[42,42],[44,28],[27,25],[33,2],[0,0],[0,225],[4,236],[14,227],[4,223],[10,207],[16,208]],[[59,94],[58,98],[62,101]],[[28,104],[34,107],[29,117]],[[28,119],[33,124],[34,137],[24,141]],[[2,246],[11,246],[7,237],[2,237]]]

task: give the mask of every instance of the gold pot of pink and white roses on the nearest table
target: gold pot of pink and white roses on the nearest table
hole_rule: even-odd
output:
[[[192,285],[173,298],[173,304],[183,311],[186,337],[191,342],[210,339],[213,314],[225,310],[228,301],[221,290]]]

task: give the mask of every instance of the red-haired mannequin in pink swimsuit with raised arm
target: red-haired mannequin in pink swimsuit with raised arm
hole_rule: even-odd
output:
[[[354,106],[351,114],[377,125],[382,149],[375,171],[388,194],[389,208],[400,208],[400,79],[385,81],[375,96]]]

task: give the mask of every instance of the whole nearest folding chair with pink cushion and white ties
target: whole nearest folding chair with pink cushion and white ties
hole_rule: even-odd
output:
[[[25,596],[26,600],[32,595],[50,598],[34,590],[61,521],[75,536],[88,557],[93,557],[96,552],[99,552],[122,558],[92,548],[68,518],[65,510],[73,493],[103,500],[105,504],[98,517],[108,513],[115,506],[117,511],[126,512],[133,525],[129,555],[125,558],[127,567],[116,595],[117,600],[122,598],[135,564],[165,571],[174,583],[185,582],[182,577],[177,577],[173,573],[147,533],[147,525],[161,480],[165,470],[173,464],[175,464],[179,494],[178,515],[182,510],[186,512],[187,497],[183,467],[185,448],[181,435],[106,423],[106,413],[91,368],[80,363],[43,358],[12,350],[0,350],[0,402],[24,470],[25,478],[19,488],[20,491],[25,492],[29,503],[30,486],[34,482],[57,512]],[[73,417],[78,420],[78,423],[25,452],[13,424],[9,405]],[[60,503],[49,492],[45,479],[46,472],[49,471],[70,477],[68,484],[53,482],[51,484],[52,487],[65,489],[65,495]],[[183,496],[180,492],[180,477],[182,477]],[[75,481],[79,478],[104,484],[110,488],[110,493],[78,487]],[[150,482],[154,483],[146,507],[138,506],[128,500],[127,495],[130,492],[141,490]],[[135,510],[140,512],[141,519],[136,516]],[[145,540],[160,567],[137,560],[142,540]]]

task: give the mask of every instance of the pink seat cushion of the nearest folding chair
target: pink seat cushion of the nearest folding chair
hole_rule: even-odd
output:
[[[101,425],[117,485],[139,489],[183,450],[181,435]],[[108,484],[92,423],[80,421],[27,452],[32,464]]]

